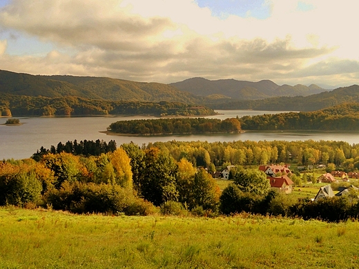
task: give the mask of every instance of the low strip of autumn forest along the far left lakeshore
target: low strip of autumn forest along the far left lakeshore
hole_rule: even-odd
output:
[[[157,117],[216,114],[211,108],[179,102],[108,101],[83,97],[30,97],[1,94],[1,116],[151,114]]]

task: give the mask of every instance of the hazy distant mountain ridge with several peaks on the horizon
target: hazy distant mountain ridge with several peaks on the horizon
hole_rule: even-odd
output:
[[[304,86],[301,84],[289,86],[284,84],[279,86],[270,80],[258,82],[238,81],[235,79],[208,80],[201,77],[186,79],[169,85],[177,89],[191,92],[191,94],[208,97],[211,94],[222,94],[231,99],[266,99],[278,96],[308,96],[326,91],[315,84]]]

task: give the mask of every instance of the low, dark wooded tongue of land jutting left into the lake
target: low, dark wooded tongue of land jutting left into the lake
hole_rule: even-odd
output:
[[[117,121],[107,128],[110,132],[133,135],[200,134],[240,132],[238,119],[172,118]]]

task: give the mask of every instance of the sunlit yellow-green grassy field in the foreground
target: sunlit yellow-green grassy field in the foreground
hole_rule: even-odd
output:
[[[0,268],[359,268],[357,221],[0,208]]]

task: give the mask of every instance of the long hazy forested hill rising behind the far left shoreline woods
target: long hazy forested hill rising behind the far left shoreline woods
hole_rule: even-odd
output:
[[[180,101],[202,103],[201,97],[162,83],[106,77],[34,76],[0,70],[0,94],[42,97],[84,97],[110,101]]]

